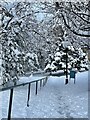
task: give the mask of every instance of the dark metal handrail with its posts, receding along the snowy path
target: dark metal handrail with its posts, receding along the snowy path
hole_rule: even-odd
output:
[[[36,80],[30,81],[30,82],[26,82],[26,83],[18,82],[18,84],[16,84],[16,85],[11,85],[11,86],[7,86],[7,87],[6,86],[2,86],[2,88],[0,88],[0,92],[1,91],[5,91],[5,90],[10,90],[10,99],[9,99],[9,108],[8,108],[8,118],[7,118],[7,120],[11,120],[11,111],[12,111],[12,102],[13,102],[13,91],[14,91],[14,88],[28,85],[27,107],[29,107],[31,84],[34,83],[34,82],[36,83],[35,94],[37,95],[38,81],[40,81],[40,89],[41,89],[42,81],[43,81],[43,86],[45,86],[45,84],[47,82],[47,79],[48,79],[48,76],[45,76],[45,77],[42,77],[41,79],[36,79]]]

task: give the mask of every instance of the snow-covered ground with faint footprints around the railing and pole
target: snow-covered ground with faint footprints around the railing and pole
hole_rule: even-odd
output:
[[[28,86],[14,90],[13,118],[88,118],[88,72],[77,73],[76,84],[73,79],[64,84],[65,76],[48,78],[46,86],[31,86],[30,106],[27,107]],[[0,118],[7,117],[9,91],[0,92]],[[1,114],[2,113],[2,114]]]

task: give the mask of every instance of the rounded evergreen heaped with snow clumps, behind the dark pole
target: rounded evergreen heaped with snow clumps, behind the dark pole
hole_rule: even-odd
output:
[[[68,46],[68,69],[85,68],[88,70],[88,58],[87,54],[83,52],[81,48],[74,48]],[[46,60],[45,71],[57,71],[66,69],[66,53],[63,44],[60,44],[54,55],[49,55]]]

